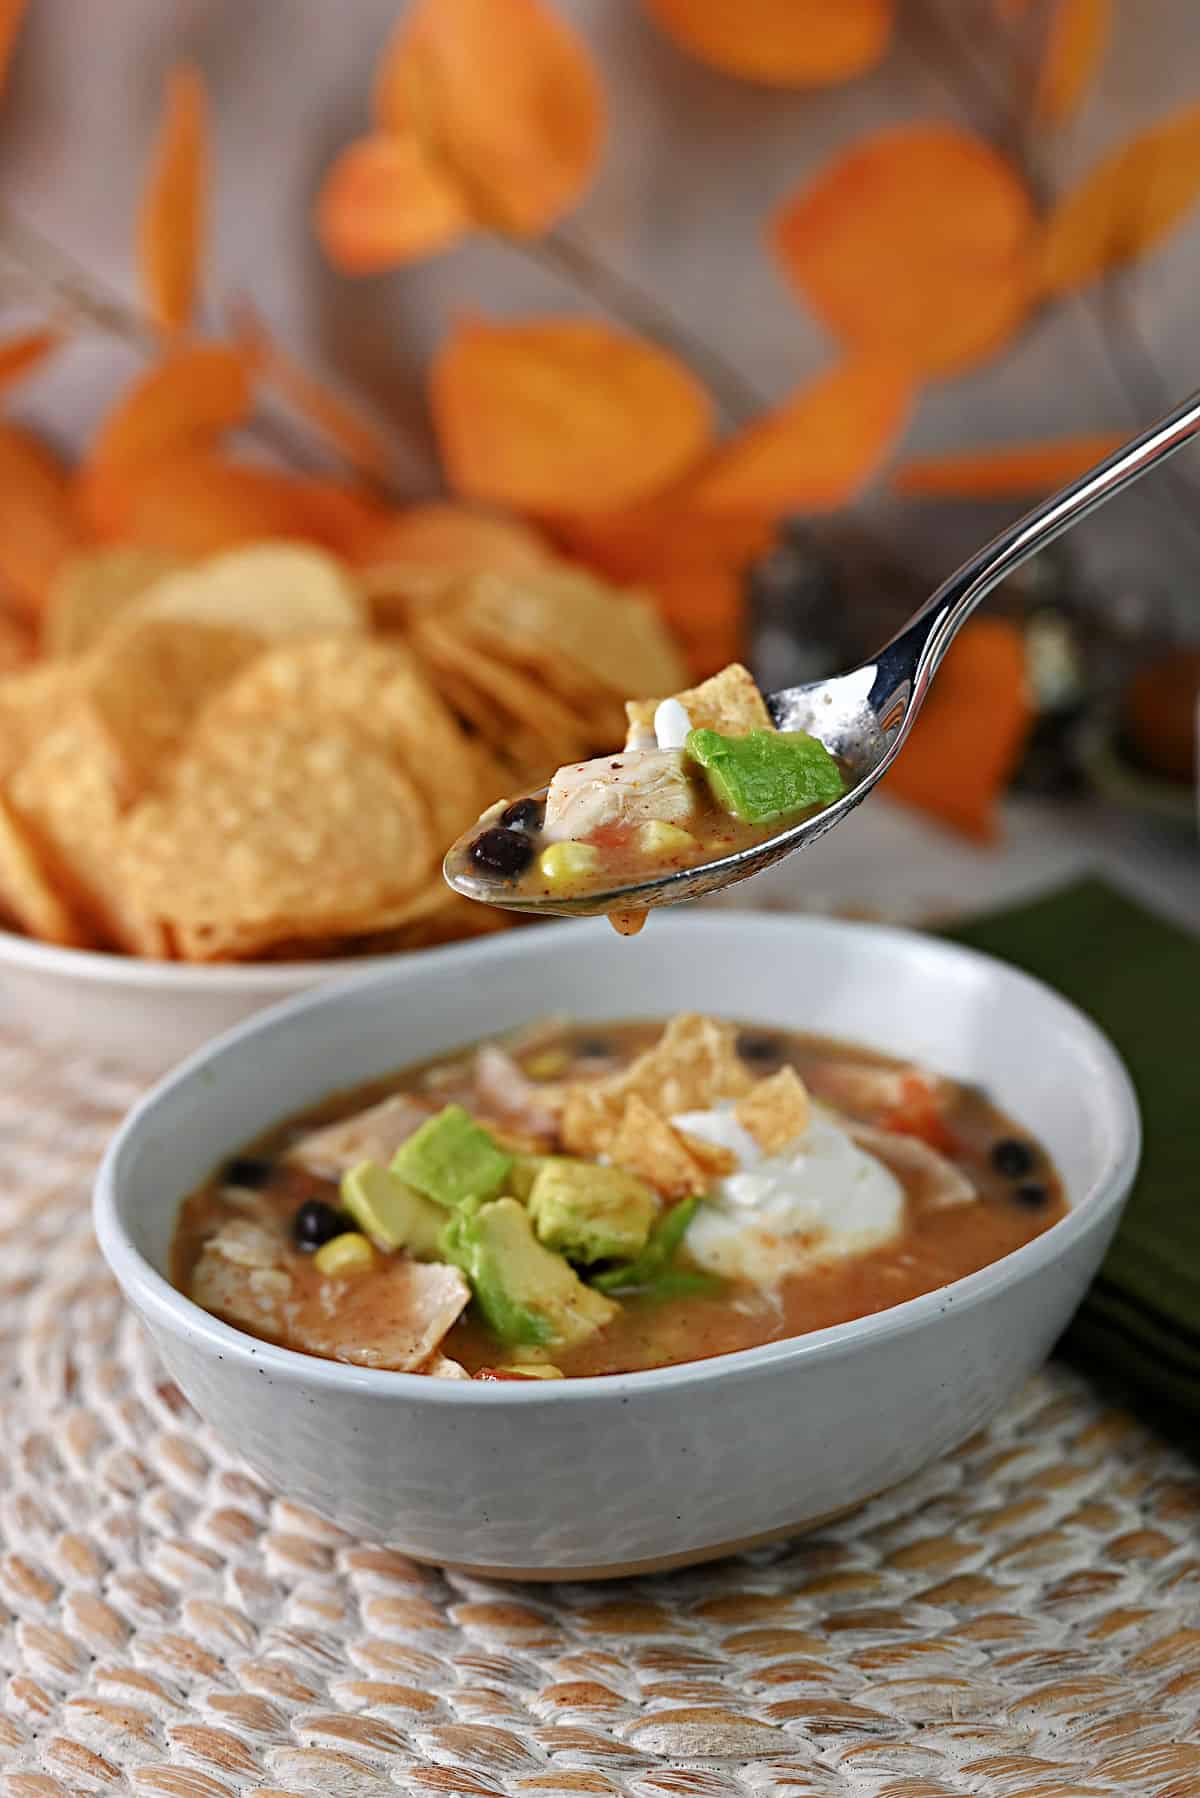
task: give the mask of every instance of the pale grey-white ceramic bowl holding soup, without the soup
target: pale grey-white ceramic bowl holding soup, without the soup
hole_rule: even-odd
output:
[[[981,1081],[1051,1149],[1070,1214],[1015,1255],[835,1329],[606,1379],[468,1384],[255,1341],[164,1278],[178,1199],[270,1124],[540,1010],[682,1009],[819,1030]],[[1051,1350],[1139,1153],[1117,1055],[999,962],[865,924],[657,915],[520,931],[293,1000],[193,1055],[104,1160],[99,1241],[196,1410],[275,1489],[419,1559],[513,1577],[682,1564],[916,1473]]]

